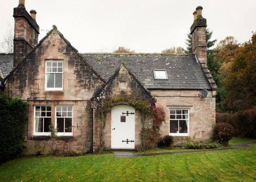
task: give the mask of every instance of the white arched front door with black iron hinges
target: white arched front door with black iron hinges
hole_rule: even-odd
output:
[[[119,105],[111,109],[111,148],[135,148],[135,109]]]

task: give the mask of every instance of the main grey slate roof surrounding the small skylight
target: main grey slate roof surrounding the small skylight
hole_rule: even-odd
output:
[[[195,55],[81,54],[107,81],[124,63],[147,89],[212,89]],[[155,80],[154,69],[164,69],[168,80]]]

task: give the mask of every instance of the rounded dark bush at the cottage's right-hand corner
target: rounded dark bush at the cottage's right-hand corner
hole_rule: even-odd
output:
[[[222,145],[227,145],[232,139],[234,127],[228,123],[217,123],[212,133],[212,139]]]

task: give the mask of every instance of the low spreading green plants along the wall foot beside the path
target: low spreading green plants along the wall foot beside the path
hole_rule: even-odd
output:
[[[184,149],[211,149],[221,147],[217,142],[185,142]]]

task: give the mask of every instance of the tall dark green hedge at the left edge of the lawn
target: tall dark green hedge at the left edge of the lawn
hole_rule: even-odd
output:
[[[22,152],[28,104],[0,92],[0,164]]]

